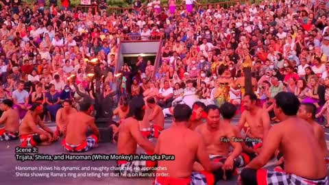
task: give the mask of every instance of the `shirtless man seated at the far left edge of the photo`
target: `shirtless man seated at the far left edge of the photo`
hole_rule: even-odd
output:
[[[0,141],[19,138],[19,113],[12,109],[13,104],[10,99],[4,99],[0,104],[0,109],[4,111],[0,118],[0,125],[5,124],[5,127],[0,129]]]

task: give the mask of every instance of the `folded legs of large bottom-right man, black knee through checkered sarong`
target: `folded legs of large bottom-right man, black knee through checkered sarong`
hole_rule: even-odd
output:
[[[265,184],[283,184],[283,185],[307,185],[317,184],[326,185],[328,184],[328,177],[321,178],[319,180],[308,180],[303,177],[299,177],[294,174],[288,174],[284,171],[273,171],[267,169],[243,169],[241,171],[241,181],[247,185],[265,185]]]

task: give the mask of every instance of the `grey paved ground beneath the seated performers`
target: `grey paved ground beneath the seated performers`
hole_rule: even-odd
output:
[[[234,119],[236,123],[237,119]],[[171,120],[167,119],[165,127],[169,127]],[[47,124],[51,129],[55,130],[55,125],[53,123]],[[329,130],[326,130],[326,139],[329,140]],[[327,141],[328,143],[328,141]],[[151,184],[153,178],[123,178],[114,177],[114,173],[111,174],[112,170],[100,171],[100,169],[91,169],[91,167],[114,167],[114,161],[16,161],[15,160],[15,147],[19,145],[19,141],[13,142],[1,142],[0,143],[0,184],[96,184],[96,185],[108,185],[108,184]],[[112,143],[101,143],[98,148],[93,149],[92,152],[87,152],[84,154],[92,153],[116,153],[117,147]],[[39,147],[38,153],[47,153],[50,155],[65,153],[60,146],[60,142],[55,143],[47,147]],[[275,161],[271,161],[267,164],[267,168],[273,168]],[[36,167],[37,169],[24,171],[19,169],[19,167]],[[80,167],[80,170],[68,169],[69,167]],[[82,170],[82,167],[90,167],[90,169]],[[59,169],[58,169],[59,168]],[[57,169],[57,170],[56,170]],[[45,175],[44,177],[21,177],[22,173],[29,173],[29,175]],[[51,173],[53,173],[51,175]],[[82,177],[74,177],[80,173]],[[71,177],[51,177],[56,175],[71,175]],[[49,177],[47,177],[49,175]],[[84,177],[86,175],[86,177]],[[97,177],[97,175],[100,175]],[[108,177],[106,177],[108,175]],[[88,177],[87,177],[88,176]],[[218,184],[229,185],[236,184],[236,177],[234,180],[228,182],[219,182]]]

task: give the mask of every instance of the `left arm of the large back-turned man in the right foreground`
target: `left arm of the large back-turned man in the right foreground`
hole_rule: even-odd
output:
[[[269,130],[269,133],[267,134],[267,137],[264,140],[262,150],[256,158],[254,158],[249,164],[247,164],[246,168],[260,169],[264,167],[265,164],[269,162],[269,159],[273,156],[273,153],[275,153],[276,150],[279,148],[280,141],[280,131],[278,127],[273,126],[271,130]]]

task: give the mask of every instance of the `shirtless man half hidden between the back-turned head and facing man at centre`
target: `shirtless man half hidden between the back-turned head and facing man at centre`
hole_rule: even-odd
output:
[[[206,105],[200,101],[193,103],[192,116],[190,117],[190,121],[188,121],[188,128],[195,130],[197,126],[203,123],[202,119],[205,119],[206,117]]]

